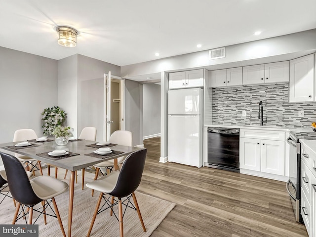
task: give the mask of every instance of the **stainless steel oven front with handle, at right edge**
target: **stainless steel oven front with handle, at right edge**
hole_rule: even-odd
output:
[[[290,145],[290,170],[286,189],[291,197],[296,221],[303,223],[301,216],[301,144],[295,136],[291,136],[291,133],[286,141]]]

